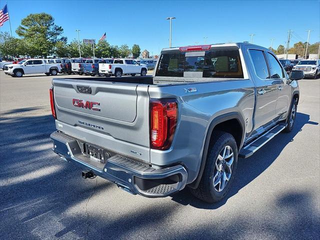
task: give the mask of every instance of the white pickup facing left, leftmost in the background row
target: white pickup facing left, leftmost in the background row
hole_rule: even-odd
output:
[[[56,75],[61,71],[60,63],[45,63],[43,59],[27,59],[20,64],[9,64],[4,66],[4,73],[7,75],[21,77],[24,74],[45,73]]]

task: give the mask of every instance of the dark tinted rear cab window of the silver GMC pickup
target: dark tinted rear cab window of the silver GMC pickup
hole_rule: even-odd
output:
[[[243,78],[238,50],[207,50],[201,56],[186,56],[177,51],[163,53],[155,75],[183,77],[185,72],[198,72],[202,77]]]

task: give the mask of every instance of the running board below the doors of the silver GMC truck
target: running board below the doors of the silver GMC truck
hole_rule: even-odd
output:
[[[278,124],[272,127],[270,130],[265,132],[263,135],[259,136],[254,141],[250,142],[248,145],[242,147],[239,151],[239,157],[247,158],[251,156],[255,151],[257,151],[261,146],[271,140],[276,134],[282,131],[285,128],[285,125]]]

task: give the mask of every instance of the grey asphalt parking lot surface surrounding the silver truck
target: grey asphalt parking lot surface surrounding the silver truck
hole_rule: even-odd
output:
[[[187,188],[144,198],[83,179],[51,151],[51,79],[0,72],[0,239],[320,238],[320,79],[299,81],[292,132],[239,159],[216,204]]]

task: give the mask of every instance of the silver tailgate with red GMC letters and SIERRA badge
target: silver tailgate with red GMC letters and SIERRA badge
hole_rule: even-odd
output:
[[[61,78],[52,84],[62,131],[149,161],[148,85]]]

